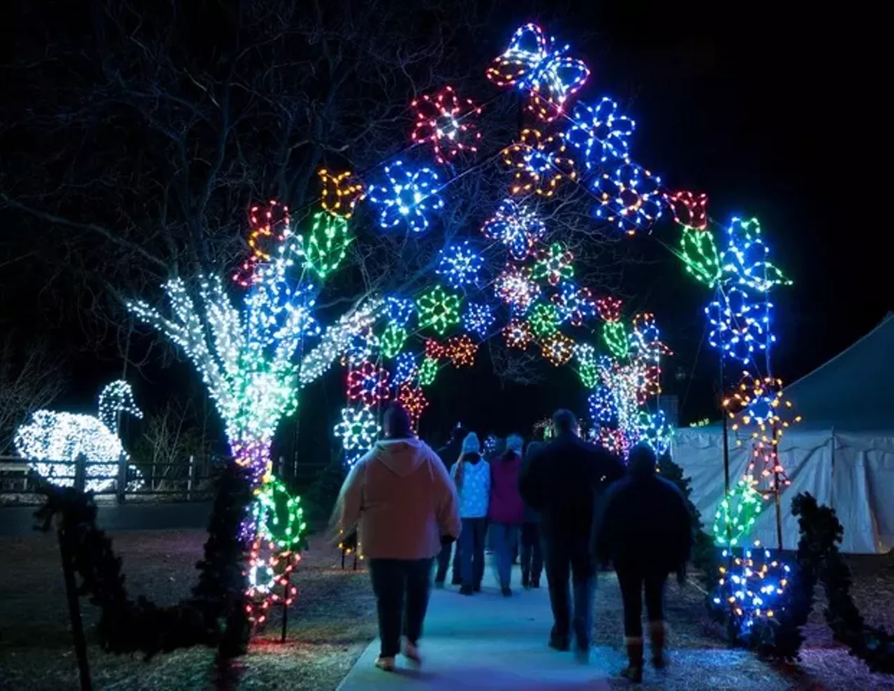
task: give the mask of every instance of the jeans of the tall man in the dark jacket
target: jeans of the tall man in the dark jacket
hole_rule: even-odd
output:
[[[596,586],[589,540],[544,535],[543,542],[546,578],[550,586],[550,604],[554,621],[552,640],[561,645],[568,645],[573,624],[578,650],[589,650],[593,636],[593,600]],[[569,588],[569,577],[571,588]]]

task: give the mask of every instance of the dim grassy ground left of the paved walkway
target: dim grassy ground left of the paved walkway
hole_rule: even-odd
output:
[[[173,603],[189,594],[204,531],[146,531],[113,535],[131,596]],[[0,688],[77,688],[62,571],[55,535],[0,538]],[[349,564],[350,569],[350,564]],[[150,661],[103,653],[90,638],[96,611],[82,601],[94,688],[314,689],[338,686],[375,637],[375,603],[367,574],[342,571],[340,552],[319,540],[298,569],[299,597],[289,613],[285,644],[274,613],[249,654],[215,668],[205,648],[160,654]]]

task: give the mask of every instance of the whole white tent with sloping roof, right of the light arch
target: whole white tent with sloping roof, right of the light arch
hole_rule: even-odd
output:
[[[791,500],[809,492],[836,510],[845,528],[843,552],[888,552],[894,547],[894,314],[786,389],[804,422],[786,431],[780,459],[791,485],[781,495],[782,542],[797,546]],[[730,483],[745,472],[750,447],[730,434]],[[692,478],[692,501],[710,526],[723,497],[720,425],[677,431],[673,458]],[[710,527],[708,528],[710,530]],[[749,534],[776,546],[772,501]]]

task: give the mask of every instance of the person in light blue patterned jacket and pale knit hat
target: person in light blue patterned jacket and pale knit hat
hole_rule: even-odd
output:
[[[491,493],[491,470],[481,456],[478,436],[470,432],[462,441],[462,455],[453,466],[453,482],[460,496],[460,594],[481,590],[485,576],[485,532]]]

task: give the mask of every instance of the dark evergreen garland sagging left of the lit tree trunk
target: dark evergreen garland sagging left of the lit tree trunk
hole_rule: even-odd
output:
[[[237,537],[251,499],[249,476],[232,463],[218,479],[204,556],[196,564],[198,583],[189,598],[159,607],[127,595],[121,557],[97,527],[92,493],[59,488],[35,478],[46,502],[36,512],[38,529],[59,528],[63,559],[80,575],[78,594],[89,594],[100,611],[97,634],[109,653],[148,657],[194,645],[217,646],[223,658],[245,653],[249,625],[243,608],[245,545]],[[55,519],[55,521],[54,521]]]

